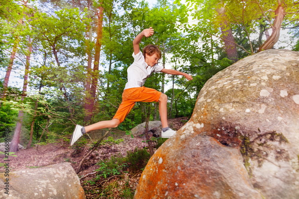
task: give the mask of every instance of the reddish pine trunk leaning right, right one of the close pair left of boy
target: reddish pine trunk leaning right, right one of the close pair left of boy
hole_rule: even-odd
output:
[[[103,7],[98,8],[98,23],[97,23],[97,41],[95,43],[95,54],[94,54],[94,68],[92,73],[92,80],[91,80],[91,101],[90,101],[90,107],[89,112],[93,112],[94,109],[94,101],[95,101],[95,94],[97,91],[97,76],[98,76],[98,70],[99,70],[99,62],[100,62],[100,51],[101,51],[101,41],[102,41],[102,32],[103,32]]]

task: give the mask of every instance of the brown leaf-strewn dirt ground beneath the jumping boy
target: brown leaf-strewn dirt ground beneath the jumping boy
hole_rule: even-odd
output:
[[[174,118],[168,120],[168,124],[170,128],[178,130],[186,123],[187,120],[188,117]],[[99,160],[104,160],[107,158],[109,159],[112,155],[116,155],[119,153],[125,156],[127,151],[133,151],[136,147],[144,148],[147,146],[146,143],[142,142],[145,140],[143,138],[131,138],[130,135],[125,135],[125,132],[116,129],[112,129],[111,132],[114,132],[115,134],[109,133],[107,137],[112,136],[114,137],[114,139],[122,138],[123,141],[120,142],[120,144],[103,144],[99,146],[94,152],[91,153],[91,155],[86,159],[86,161],[84,161],[83,168],[81,172],[78,174],[79,178],[86,174],[92,173],[95,171],[95,169],[99,168],[98,165],[95,165]],[[98,133],[101,134],[101,132]],[[93,141],[96,142],[97,138],[100,137],[100,135],[93,135],[91,137]],[[69,142],[66,142],[63,139],[58,139],[55,143],[50,143],[47,145],[37,145],[35,147],[31,147],[30,149],[22,149],[16,152],[15,155],[17,155],[17,157],[9,157],[11,169],[10,172],[21,169],[48,166],[51,164],[57,164],[62,162],[70,162],[71,166],[76,170],[77,165],[79,164],[81,159],[89,151],[89,149],[91,149],[92,143],[89,140],[83,146],[84,147],[80,148],[76,147],[76,145],[69,146]],[[1,155],[0,157],[4,158],[4,156],[2,156],[3,155]],[[124,180],[119,181],[118,183],[129,182],[128,186],[130,186],[132,190],[135,190],[141,172],[134,175],[126,173]],[[85,185],[83,185],[84,181],[88,181],[92,178],[94,178],[94,176],[90,175],[81,181],[83,189],[92,188],[90,187],[90,185],[86,186],[86,183]],[[87,193],[86,197],[94,198],[94,195],[89,195]],[[115,197],[118,198],[116,195]]]

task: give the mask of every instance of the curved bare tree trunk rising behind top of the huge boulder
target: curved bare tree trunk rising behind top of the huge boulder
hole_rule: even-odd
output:
[[[257,52],[260,52],[262,50],[268,50],[271,49],[274,44],[276,44],[276,42],[279,39],[279,35],[280,35],[280,27],[282,24],[282,20],[285,16],[285,12],[284,12],[284,8],[282,7],[282,5],[278,5],[277,9],[275,10],[275,19],[274,19],[274,23],[273,23],[273,29],[272,29],[272,34],[271,36],[265,41],[265,43],[263,43],[262,46],[260,46],[259,50]]]

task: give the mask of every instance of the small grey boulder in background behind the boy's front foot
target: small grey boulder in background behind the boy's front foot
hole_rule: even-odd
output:
[[[132,134],[137,137],[145,134],[145,122],[138,124],[131,129]],[[161,137],[162,123],[161,121],[149,121],[149,135],[155,137]]]

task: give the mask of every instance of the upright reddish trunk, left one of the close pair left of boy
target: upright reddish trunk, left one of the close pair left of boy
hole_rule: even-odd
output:
[[[85,96],[85,112],[86,115],[84,116],[84,122],[88,122],[91,119],[92,116],[92,105],[91,105],[91,93],[90,93],[90,85],[91,85],[91,62],[92,62],[92,56],[91,56],[91,42],[92,42],[92,26],[91,21],[89,22],[89,41],[86,42],[86,53],[88,55],[88,61],[87,61],[87,77],[86,77],[86,96]]]

